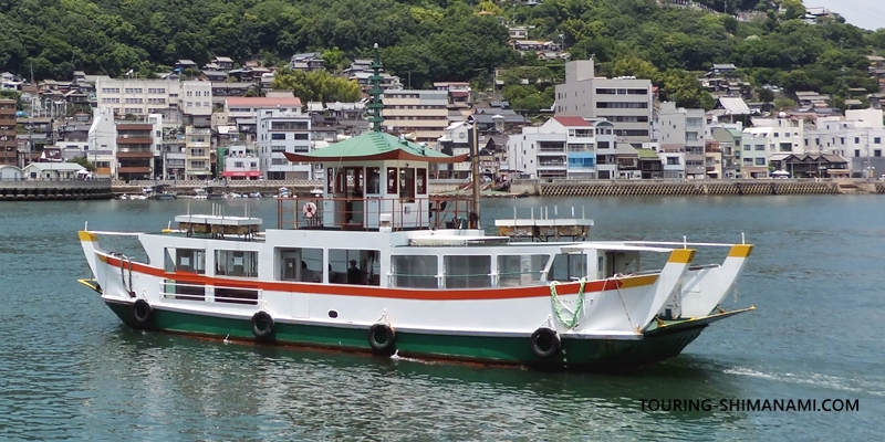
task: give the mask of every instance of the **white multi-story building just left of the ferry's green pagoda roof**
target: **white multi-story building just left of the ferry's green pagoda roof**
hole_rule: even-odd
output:
[[[311,117],[300,112],[262,109],[257,113],[258,157],[267,179],[314,179],[314,165],[292,164],[284,152],[311,151]]]

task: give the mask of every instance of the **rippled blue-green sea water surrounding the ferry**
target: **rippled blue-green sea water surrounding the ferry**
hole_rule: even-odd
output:
[[[379,359],[135,332],[76,230],[158,231],[207,201],[0,203],[0,440],[818,440],[885,432],[882,197],[483,201],[582,208],[596,239],[757,244],[717,323],[623,375]],[[275,223],[273,200],[235,200]],[[134,246],[117,240],[118,248]],[[105,243],[103,242],[103,245]],[[854,412],[643,411],[643,399],[860,400]]]

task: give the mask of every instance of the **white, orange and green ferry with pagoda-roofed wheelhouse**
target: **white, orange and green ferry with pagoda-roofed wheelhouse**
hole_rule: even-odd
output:
[[[378,105],[375,92],[372,131],[287,154],[323,165],[323,193],[278,198],[274,228],[219,207],[158,233],[84,229],[81,282],[138,329],[586,370],[674,357],[753,308],[719,307],[752,250],[743,242],[587,241],[591,220],[546,213],[488,233],[478,191],[428,193],[430,165],[465,156],[383,133]],[[147,259],[104,250],[106,234],[136,235]],[[697,265],[700,248],[726,256]]]

